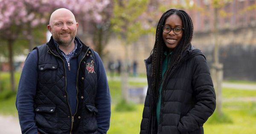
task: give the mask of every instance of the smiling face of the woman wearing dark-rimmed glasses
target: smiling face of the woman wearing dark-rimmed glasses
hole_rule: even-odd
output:
[[[169,48],[169,51],[171,52],[177,46],[182,37],[183,30],[179,32],[179,28],[183,28],[182,21],[177,14],[172,14],[166,19],[166,22],[163,27],[164,29],[166,29],[165,31],[171,30],[169,33],[163,31],[163,41],[166,44],[167,48]]]

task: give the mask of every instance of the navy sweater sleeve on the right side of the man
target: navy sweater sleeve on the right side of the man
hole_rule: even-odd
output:
[[[95,52],[95,56],[96,66],[98,68],[98,86],[95,100],[95,105],[98,109],[98,113],[96,113],[98,134],[106,134],[110,125],[111,97],[104,65],[99,57],[99,54]]]

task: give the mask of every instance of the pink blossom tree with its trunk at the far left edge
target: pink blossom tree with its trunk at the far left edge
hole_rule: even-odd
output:
[[[8,45],[12,91],[15,91],[13,45],[24,30],[30,31],[46,22],[46,9],[48,7],[41,0],[0,0],[0,38]]]

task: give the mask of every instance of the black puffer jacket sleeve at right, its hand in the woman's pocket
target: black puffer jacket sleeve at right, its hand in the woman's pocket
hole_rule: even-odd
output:
[[[192,88],[195,105],[180,119],[178,129],[181,134],[195,131],[203,126],[216,107],[216,96],[207,62],[202,55],[195,56],[192,67]]]

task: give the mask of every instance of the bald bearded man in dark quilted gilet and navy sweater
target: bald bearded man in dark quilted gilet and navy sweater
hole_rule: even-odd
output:
[[[106,134],[111,98],[102,60],[76,37],[78,23],[57,9],[49,42],[29,52],[16,107],[22,134]]]

